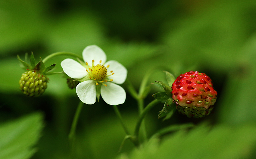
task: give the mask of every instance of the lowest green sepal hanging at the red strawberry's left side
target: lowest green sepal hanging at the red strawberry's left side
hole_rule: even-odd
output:
[[[173,113],[176,111],[175,104],[173,103],[173,98],[167,99],[164,103],[164,108],[159,112],[158,119],[164,117],[164,120],[170,119]]]

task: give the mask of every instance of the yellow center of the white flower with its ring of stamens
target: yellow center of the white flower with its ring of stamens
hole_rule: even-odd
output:
[[[105,67],[104,65],[101,65],[101,61],[99,61],[100,64],[97,64],[96,66],[94,66],[94,60],[92,60],[92,68],[90,68],[88,66],[88,63],[86,62],[86,67],[88,68],[88,70],[86,69],[86,71],[89,73],[90,75],[90,79],[95,80],[95,84],[98,86],[98,83],[102,83],[104,86],[107,86],[106,84],[104,84],[103,82],[108,82],[108,81],[113,81],[112,79],[108,79],[107,77],[111,76],[114,74],[113,71],[108,72],[107,68],[109,67],[109,65],[107,67]]]

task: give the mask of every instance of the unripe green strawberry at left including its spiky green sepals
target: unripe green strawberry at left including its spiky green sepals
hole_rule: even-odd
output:
[[[26,70],[24,73],[22,73],[19,80],[19,88],[21,92],[29,97],[38,97],[42,95],[47,88],[47,72],[52,70],[55,67],[55,64],[45,67],[45,64],[41,58],[36,64],[33,52],[30,55],[30,64],[27,63],[27,56],[25,56],[26,62],[21,60],[19,55],[17,55],[17,58]]]

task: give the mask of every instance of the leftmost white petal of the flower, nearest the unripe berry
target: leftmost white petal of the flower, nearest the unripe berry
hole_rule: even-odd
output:
[[[61,67],[68,76],[74,79],[83,78],[88,74],[86,69],[79,62],[71,58],[61,61]]]

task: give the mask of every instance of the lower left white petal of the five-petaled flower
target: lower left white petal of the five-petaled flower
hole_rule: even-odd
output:
[[[96,85],[93,80],[79,83],[76,86],[76,94],[85,104],[94,104],[96,101]]]

